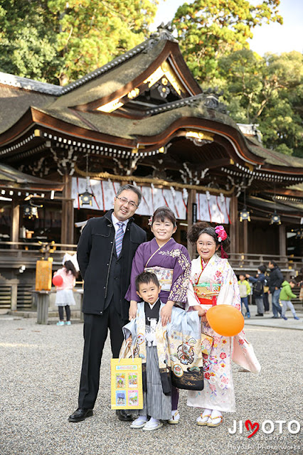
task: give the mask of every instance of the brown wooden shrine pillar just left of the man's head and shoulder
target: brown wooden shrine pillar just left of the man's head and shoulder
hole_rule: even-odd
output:
[[[65,187],[63,190],[62,218],[61,218],[61,243],[72,244],[74,242],[74,208],[72,196],[72,177],[63,176]]]

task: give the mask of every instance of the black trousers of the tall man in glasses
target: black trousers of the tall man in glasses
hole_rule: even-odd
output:
[[[79,407],[92,409],[95,405],[99,390],[102,352],[108,329],[110,329],[112,357],[118,358],[119,350],[124,340],[122,327],[127,322],[117,313],[113,301],[103,311],[102,316],[84,314],[84,350],[78,400]]]

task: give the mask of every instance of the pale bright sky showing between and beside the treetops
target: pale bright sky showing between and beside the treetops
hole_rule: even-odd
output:
[[[250,0],[254,3],[253,0]],[[159,7],[154,21],[154,28],[161,22],[168,22],[184,0],[159,0]],[[280,14],[284,19],[279,23],[262,25],[255,28],[254,37],[249,40],[250,48],[260,55],[266,52],[282,53],[298,50],[303,52],[303,0],[281,0]]]

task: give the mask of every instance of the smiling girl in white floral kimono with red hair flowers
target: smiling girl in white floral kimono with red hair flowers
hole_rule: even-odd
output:
[[[223,226],[206,223],[193,225],[188,240],[196,244],[198,258],[191,262],[191,283],[188,287],[189,309],[204,309],[213,305],[233,305],[240,311],[240,291],[233,269],[224,248],[230,240]],[[221,257],[217,255],[220,247]],[[204,389],[188,392],[188,406],[201,407],[198,425],[218,427],[223,421],[222,412],[235,412],[235,394],[231,360],[252,373],[260,372],[260,364],[244,332],[237,336],[220,336],[202,316],[202,333],[208,341],[208,353],[203,353]],[[205,352],[205,351],[204,351]]]

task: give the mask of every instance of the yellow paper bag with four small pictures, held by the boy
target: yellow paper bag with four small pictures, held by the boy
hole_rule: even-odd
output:
[[[112,410],[142,410],[142,359],[112,358],[110,361]]]

